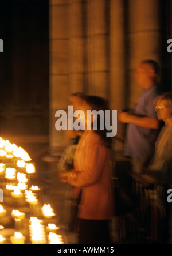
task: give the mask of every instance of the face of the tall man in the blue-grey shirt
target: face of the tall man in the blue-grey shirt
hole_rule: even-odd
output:
[[[150,81],[150,70],[150,65],[140,63],[135,71],[136,80],[139,85],[142,85],[143,88],[145,88],[147,82]]]

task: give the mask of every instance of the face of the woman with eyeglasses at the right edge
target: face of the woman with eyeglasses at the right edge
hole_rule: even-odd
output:
[[[157,110],[157,117],[159,120],[166,121],[171,117],[171,109],[167,100],[158,100],[155,108]]]

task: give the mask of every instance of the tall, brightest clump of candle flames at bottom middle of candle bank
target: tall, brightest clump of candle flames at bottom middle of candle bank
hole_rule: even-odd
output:
[[[46,243],[46,235],[42,220],[39,220],[36,217],[30,217],[29,233],[32,244]]]

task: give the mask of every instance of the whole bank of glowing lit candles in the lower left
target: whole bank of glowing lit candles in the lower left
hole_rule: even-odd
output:
[[[40,188],[33,185],[28,186],[30,175],[36,172],[34,163],[30,163],[32,159],[30,159],[28,153],[21,147],[10,144],[8,140],[2,140],[0,137],[0,159],[2,161],[0,163],[0,175],[1,177],[4,175],[8,180],[6,189],[9,190],[9,194],[15,198],[15,200],[23,197],[29,205],[37,205],[37,193]],[[23,202],[24,199],[20,199],[20,201]],[[50,204],[44,204],[41,210],[43,216],[46,218],[52,218],[56,215]],[[23,223],[23,219],[26,217],[25,212],[20,212],[17,209],[11,210],[10,214],[15,222],[19,221],[20,224]],[[0,217],[5,215],[6,210],[0,205]],[[18,230],[21,229],[21,225],[15,227]],[[48,224],[48,226],[45,227],[43,220],[30,217],[29,236],[32,244],[63,244],[62,236],[56,234],[58,229],[59,227],[55,224]],[[15,232],[14,235],[10,236],[12,244],[25,244],[25,239],[25,236],[20,232]],[[6,239],[0,235],[0,244],[4,243],[5,240]]]

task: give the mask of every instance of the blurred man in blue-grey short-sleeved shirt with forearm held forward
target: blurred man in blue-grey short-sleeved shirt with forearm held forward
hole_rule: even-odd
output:
[[[154,155],[155,141],[159,134],[160,122],[153,106],[158,96],[159,66],[153,60],[142,61],[135,77],[143,92],[132,114],[120,111],[118,119],[127,123],[124,155],[131,157],[132,170],[141,173]]]

